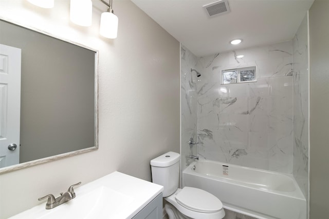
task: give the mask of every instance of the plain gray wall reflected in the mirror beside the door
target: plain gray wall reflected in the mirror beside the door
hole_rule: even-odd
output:
[[[20,163],[92,147],[95,52],[0,21],[22,49]]]

